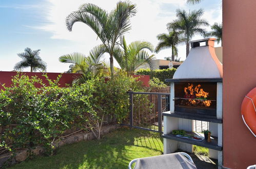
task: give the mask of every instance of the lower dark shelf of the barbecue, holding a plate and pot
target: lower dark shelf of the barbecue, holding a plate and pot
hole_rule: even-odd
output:
[[[218,146],[218,137],[212,137],[213,139],[211,139],[211,142],[207,142],[206,140],[202,140],[202,141],[196,141],[196,140],[192,140],[189,138],[182,138],[182,137],[177,137],[173,134],[163,134],[162,135],[163,138],[167,138],[167,139],[171,139],[171,140],[175,140],[175,141],[180,141],[180,142],[185,142],[188,144],[193,144],[193,145],[199,145],[199,146],[203,146],[203,147],[207,147],[208,149],[212,149],[212,150],[217,150],[217,151],[222,151],[222,146]]]

